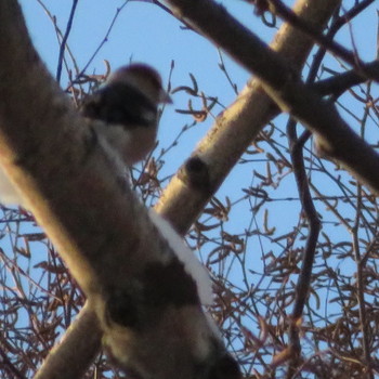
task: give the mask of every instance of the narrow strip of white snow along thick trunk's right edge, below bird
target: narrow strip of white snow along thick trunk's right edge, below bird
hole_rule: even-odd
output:
[[[195,280],[201,304],[212,304],[212,283],[207,269],[196,259],[194,252],[184,244],[182,237],[173,230],[168,221],[160,217],[154,209],[149,209],[148,214],[178,259],[184,264],[184,270]]]

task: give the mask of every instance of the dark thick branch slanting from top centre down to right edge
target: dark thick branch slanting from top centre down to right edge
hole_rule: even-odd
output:
[[[350,129],[334,104],[323,101],[309,86],[301,82],[298,73],[287,61],[267,49],[224,8],[212,1],[168,2],[174,6],[177,14],[190,21],[196,29],[256,74],[263,89],[282,110],[290,113],[314,133],[322,155],[341,164],[379,194],[379,178],[376,175],[379,155]]]

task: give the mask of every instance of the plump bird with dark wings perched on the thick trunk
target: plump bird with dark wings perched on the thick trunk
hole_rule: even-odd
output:
[[[158,105],[171,103],[159,74],[144,64],[117,69],[86,101],[81,114],[101,120],[95,125],[123,164],[132,166],[154,147],[158,127]]]

